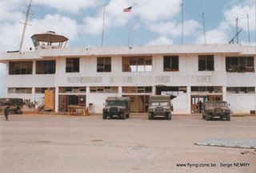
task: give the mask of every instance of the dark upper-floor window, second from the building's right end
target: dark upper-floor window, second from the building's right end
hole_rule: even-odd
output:
[[[214,55],[199,55],[198,56],[199,71],[214,71]]]

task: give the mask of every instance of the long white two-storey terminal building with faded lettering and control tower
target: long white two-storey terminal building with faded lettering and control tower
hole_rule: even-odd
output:
[[[53,32],[32,36],[35,50],[0,54],[6,96],[39,102],[54,93],[54,112],[90,106],[107,96],[130,96],[131,112],[146,112],[149,96],[168,94],[174,113],[198,113],[198,102],[226,100],[234,113],[256,109],[255,46],[143,45],[65,48]]]

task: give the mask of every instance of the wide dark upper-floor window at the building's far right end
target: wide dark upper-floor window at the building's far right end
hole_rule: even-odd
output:
[[[254,57],[226,57],[226,72],[254,72]]]

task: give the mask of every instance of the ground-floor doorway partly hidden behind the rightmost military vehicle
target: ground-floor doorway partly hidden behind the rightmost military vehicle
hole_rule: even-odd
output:
[[[222,100],[222,95],[193,95],[191,96],[191,113],[201,113],[202,104],[208,100]]]

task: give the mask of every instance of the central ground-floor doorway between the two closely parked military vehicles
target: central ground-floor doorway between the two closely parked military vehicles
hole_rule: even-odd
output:
[[[125,96],[125,95],[123,95]],[[129,95],[130,112],[146,113],[149,108],[149,95]]]

